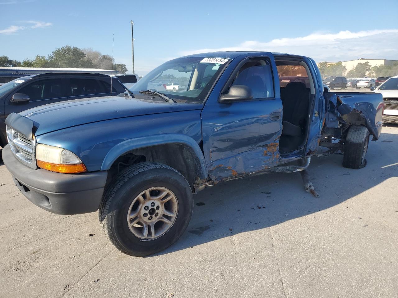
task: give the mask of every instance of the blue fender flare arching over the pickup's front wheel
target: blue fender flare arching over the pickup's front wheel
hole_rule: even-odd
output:
[[[125,140],[108,151],[107,155],[105,156],[102,165],[102,170],[109,170],[111,165],[116,161],[116,159],[134,149],[140,149],[144,147],[152,147],[156,145],[164,145],[164,144],[171,144],[171,143],[178,143],[185,145],[189,149],[193,151],[193,154],[197,157],[199,163],[199,178],[200,179],[207,179],[207,168],[206,168],[206,161],[205,157],[203,156],[203,152],[199,147],[199,144],[195,142],[194,139],[191,137],[184,135],[184,134],[160,134],[160,135],[148,135],[145,137],[136,137],[133,139]]]

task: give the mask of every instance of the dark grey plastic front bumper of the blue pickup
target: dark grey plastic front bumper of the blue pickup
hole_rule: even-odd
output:
[[[29,168],[18,161],[10,145],[4,147],[2,157],[18,189],[40,208],[62,215],[98,210],[107,171],[61,174]]]

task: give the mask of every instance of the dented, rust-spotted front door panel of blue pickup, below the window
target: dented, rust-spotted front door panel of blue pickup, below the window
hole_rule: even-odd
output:
[[[277,121],[269,117],[275,112],[281,114]],[[208,122],[203,119],[203,147],[213,181],[238,178],[279,163],[280,99],[246,102],[241,107],[234,103],[228,112],[212,112],[209,118]]]

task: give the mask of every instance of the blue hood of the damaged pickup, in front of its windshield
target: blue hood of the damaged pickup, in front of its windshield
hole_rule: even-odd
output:
[[[112,96],[47,104],[20,114],[32,120],[35,127],[34,134],[41,135],[92,122],[202,108],[202,104],[167,103]]]

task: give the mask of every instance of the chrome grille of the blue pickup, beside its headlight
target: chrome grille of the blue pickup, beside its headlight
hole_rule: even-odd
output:
[[[7,126],[7,139],[11,151],[24,164],[36,168],[35,141],[31,141]]]

